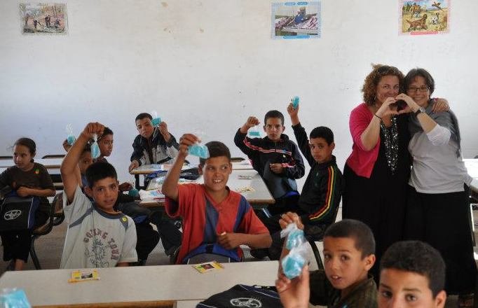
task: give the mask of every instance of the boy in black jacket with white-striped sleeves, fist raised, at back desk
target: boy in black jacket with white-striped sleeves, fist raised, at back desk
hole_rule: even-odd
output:
[[[251,160],[252,167],[262,176],[275,198],[268,210],[272,215],[295,211],[299,193],[295,179],[305,174],[299,149],[284,132],[284,116],[280,111],[268,111],[264,117],[267,137],[249,138],[247,131],[259,125],[253,116],[235,133],[234,143]],[[264,217],[259,216],[264,220]]]

